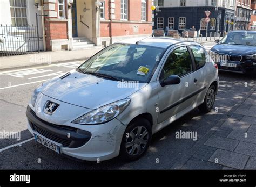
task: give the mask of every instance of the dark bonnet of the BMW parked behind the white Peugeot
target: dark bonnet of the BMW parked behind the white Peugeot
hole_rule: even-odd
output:
[[[256,53],[256,47],[232,44],[217,44],[211,51],[225,54],[251,55]]]

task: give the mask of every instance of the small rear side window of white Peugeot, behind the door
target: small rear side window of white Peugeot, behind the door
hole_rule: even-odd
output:
[[[205,52],[204,49],[200,46],[190,46],[190,49],[194,56],[194,61],[196,63],[196,69],[200,69],[205,65]]]

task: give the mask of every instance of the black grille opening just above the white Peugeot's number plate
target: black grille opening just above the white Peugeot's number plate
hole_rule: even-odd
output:
[[[61,143],[64,147],[69,147],[71,141],[69,140],[65,140],[55,134],[52,134],[48,131],[43,130],[42,128],[40,128],[39,126],[37,126],[36,124],[32,124],[33,130],[35,130],[36,132],[38,132],[39,134],[45,136],[46,138],[49,138],[50,140],[56,141],[58,143]]]

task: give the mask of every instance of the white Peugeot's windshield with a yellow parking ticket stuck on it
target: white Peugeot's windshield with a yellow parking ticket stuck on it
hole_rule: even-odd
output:
[[[163,48],[138,44],[113,44],[84,62],[78,70],[119,81],[149,82]]]

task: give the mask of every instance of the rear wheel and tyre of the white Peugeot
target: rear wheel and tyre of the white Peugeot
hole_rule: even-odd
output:
[[[207,90],[204,103],[198,106],[199,110],[204,113],[208,113],[212,110],[216,98],[216,88],[214,85]]]

